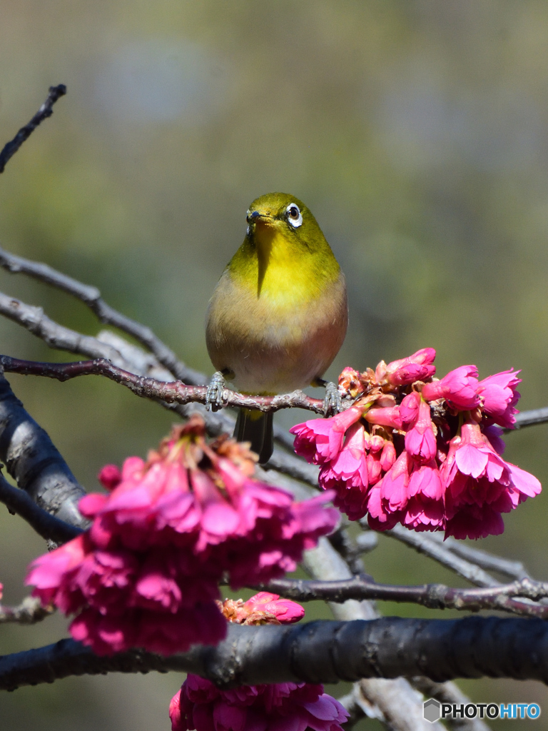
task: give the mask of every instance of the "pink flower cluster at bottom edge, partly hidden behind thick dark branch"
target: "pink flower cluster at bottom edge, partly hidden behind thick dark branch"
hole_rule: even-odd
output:
[[[248,613],[235,616],[230,600],[224,602],[223,612],[237,624],[249,624],[256,607],[259,611],[268,607],[271,615],[263,617],[261,624],[285,624],[304,614],[295,602],[267,592],[235,604],[240,609],[247,607]],[[199,675],[187,675],[170,703],[172,731],[341,731],[340,724],[348,715],[321,685],[273,683],[220,690]]]

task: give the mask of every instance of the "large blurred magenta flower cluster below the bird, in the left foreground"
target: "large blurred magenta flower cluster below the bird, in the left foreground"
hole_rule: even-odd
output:
[[[253,471],[246,447],[226,437],[208,444],[196,417],[148,461],[105,467],[110,493],[80,501],[90,529],[37,558],[26,583],[43,605],[75,614],[72,637],[98,654],[216,644],[227,627],[221,577],[238,588],[293,571],[338,520],[323,507],[329,496],[295,503]]]

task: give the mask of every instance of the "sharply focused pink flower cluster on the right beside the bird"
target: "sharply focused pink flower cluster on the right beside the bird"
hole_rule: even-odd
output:
[[[538,495],[536,477],[502,458],[501,427],[515,424],[519,371],[479,381],[476,366],[434,379],[425,348],[375,371],[345,368],[349,409],[294,426],[297,454],[320,466],[320,485],[351,520],[373,529],[479,538],[503,532],[501,514]]]

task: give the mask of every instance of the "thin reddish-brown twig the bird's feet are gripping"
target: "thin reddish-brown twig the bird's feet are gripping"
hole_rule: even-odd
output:
[[[9,355],[0,356],[0,364],[8,373],[18,373],[25,376],[45,376],[58,381],[69,381],[77,376],[105,376],[126,386],[133,393],[142,398],[153,398],[155,401],[165,401],[167,404],[206,403],[206,386],[186,386],[180,381],[157,381],[153,378],[136,376],[135,374],[118,368],[110,360],[96,358],[95,360],[78,360],[75,363],[37,363],[34,360],[19,360]],[[240,406],[246,409],[256,409],[261,412],[276,412],[280,409],[308,409],[308,411],[322,414],[324,402],[319,398],[311,398],[302,391],[294,391],[276,396],[249,396],[224,389],[223,400],[227,406]]]

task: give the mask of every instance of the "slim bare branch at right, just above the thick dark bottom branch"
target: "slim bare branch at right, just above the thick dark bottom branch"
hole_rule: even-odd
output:
[[[548,606],[518,602],[513,596],[538,601],[548,596],[548,583],[519,579],[510,584],[479,589],[459,589],[444,584],[422,586],[393,586],[373,581],[368,575],[353,576],[338,581],[307,581],[303,579],[274,579],[265,586],[254,587],[271,591],[297,602],[346,602],[348,599],[381,599],[384,602],[411,602],[429,609],[457,609],[479,612],[496,609],[528,617],[548,618]]]

